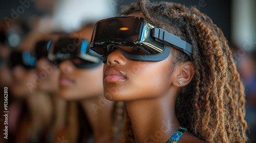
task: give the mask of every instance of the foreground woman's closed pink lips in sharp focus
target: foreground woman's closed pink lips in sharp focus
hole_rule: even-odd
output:
[[[117,68],[114,68],[114,67],[108,68],[104,72],[104,80],[106,82],[115,82],[118,80],[125,80],[125,79],[126,77],[123,74],[123,72],[121,72]]]

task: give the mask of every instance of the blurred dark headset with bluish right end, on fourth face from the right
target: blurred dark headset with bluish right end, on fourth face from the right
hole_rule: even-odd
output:
[[[35,57],[31,56],[29,51],[13,51],[10,55],[9,62],[10,69],[20,65],[29,70],[35,67],[37,60]]]

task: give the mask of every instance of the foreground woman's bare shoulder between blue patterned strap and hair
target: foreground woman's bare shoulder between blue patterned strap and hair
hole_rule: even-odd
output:
[[[190,134],[189,132],[184,132],[180,137],[179,143],[206,143],[204,140],[197,138],[196,136]]]

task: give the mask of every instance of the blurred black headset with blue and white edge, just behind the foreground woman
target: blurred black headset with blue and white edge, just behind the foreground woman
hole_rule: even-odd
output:
[[[102,57],[89,48],[89,42],[77,38],[61,38],[49,44],[48,60],[58,66],[70,60],[77,68],[94,68],[101,64]]]

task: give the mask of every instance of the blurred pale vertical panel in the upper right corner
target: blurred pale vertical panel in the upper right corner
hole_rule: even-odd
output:
[[[232,1],[232,41],[246,51],[256,48],[256,1]]]

